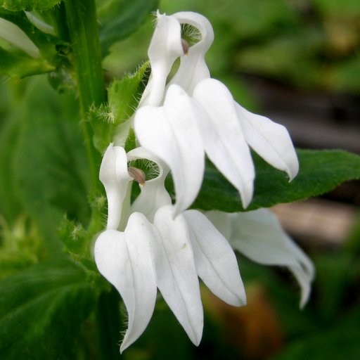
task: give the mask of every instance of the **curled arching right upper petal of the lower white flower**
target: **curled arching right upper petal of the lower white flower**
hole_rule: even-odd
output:
[[[159,175],[140,185],[141,193],[131,205],[131,212],[141,212],[146,218],[153,222],[155,212],[164,205],[171,205],[172,200],[165,188],[165,178],[169,173],[169,168],[157,156],[149,153],[144,148],[135,148],[127,153],[127,159],[148,159],[158,165]]]

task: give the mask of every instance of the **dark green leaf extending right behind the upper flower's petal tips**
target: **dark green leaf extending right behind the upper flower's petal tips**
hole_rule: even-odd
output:
[[[360,178],[358,155],[342,150],[297,150],[297,155],[300,172],[290,183],[284,172],[254,155],[255,194],[246,210],[307,199],[326,193],[343,181]],[[174,193],[170,181],[167,181],[167,186]],[[206,211],[243,211],[236,188],[210,162],[207,162],[203,187],[192,207]]]

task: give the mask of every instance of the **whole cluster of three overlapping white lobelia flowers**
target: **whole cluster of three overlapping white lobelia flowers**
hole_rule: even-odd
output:
[[[183,24],[198,30],[196,44],[189,46],[181,39]],[[203,333],[198,278],[224,302],[244,305],[233,248],[262,264],[288,266],[302,288],[301,303],[309,296],[312,264],[271,214],[205,216],[188,210],[203,181],[205,155],[238,189],[243,207],[252,199],[255,178],[249,146],[287,172],[290,180],[298,170],[288,131],[242,108],[224,84],[210,78],[204,57],[213,37],[202,15],[158,13],[148,49],[151,75],[132,124],[141,146],[126,153],[111,143],[103,156],[100,179],[108,198],[108,221],[96,239],[94,256],[98,270],[127,308],[121,352],[148,325],[158,290],[195,345]],[[178,58],[179,70],[168,79]],[[155,165],[156,176],[148,179],[132,167],[136,160]],[[169,172],[176,191],[174,205],[165,189]],[[134,181],[141,193],[131,203]]]

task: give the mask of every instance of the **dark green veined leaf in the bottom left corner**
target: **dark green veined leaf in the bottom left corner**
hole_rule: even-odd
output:
[[[7,360],[74,359],[95,304],[84,272],[68,260],[32,266],[0,281],[0,354]]]

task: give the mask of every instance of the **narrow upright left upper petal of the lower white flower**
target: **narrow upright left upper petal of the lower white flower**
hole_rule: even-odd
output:
[[[108,198],[108,224],[106,229],[117,229],[120,224],[122,205],[127,195],[131,177],[127,172],[127,154],[124,148],[108,146],[101,162],[99,178]]]

